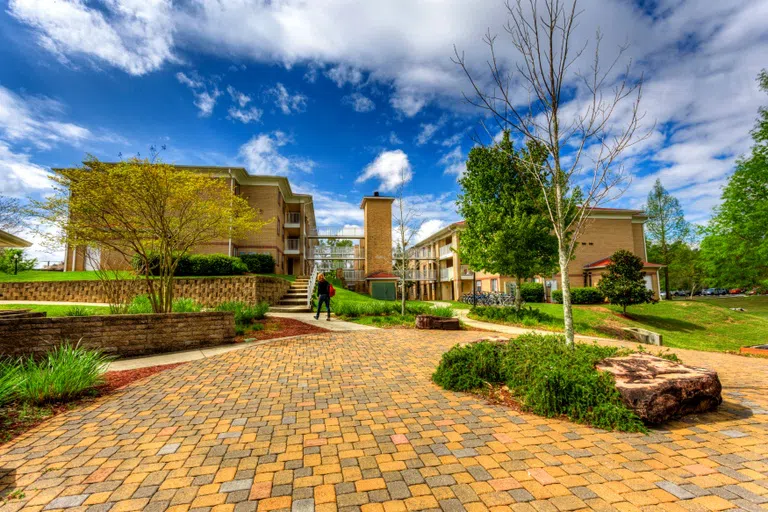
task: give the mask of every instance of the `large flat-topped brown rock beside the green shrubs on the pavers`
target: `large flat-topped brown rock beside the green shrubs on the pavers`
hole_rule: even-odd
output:
[[[624,403],[648,423],[716,409],[723,401],[717,372],[649,354],[611,357],[598,370],[612,373]]]

